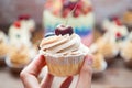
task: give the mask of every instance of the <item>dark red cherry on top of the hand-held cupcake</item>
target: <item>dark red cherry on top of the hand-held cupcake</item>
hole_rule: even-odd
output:
[[[65,35],[65,34],[72,35],[73,33],[74,33],[74,30],[72,26],[65,26],[61,24],[55,29],[56,35]]]

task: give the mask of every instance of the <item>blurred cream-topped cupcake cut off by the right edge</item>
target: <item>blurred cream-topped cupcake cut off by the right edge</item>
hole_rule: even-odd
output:
[[[128,38],[121,44],[120,55],[124,59],[128,67],[132,68],[132,32],[129,34]]]

